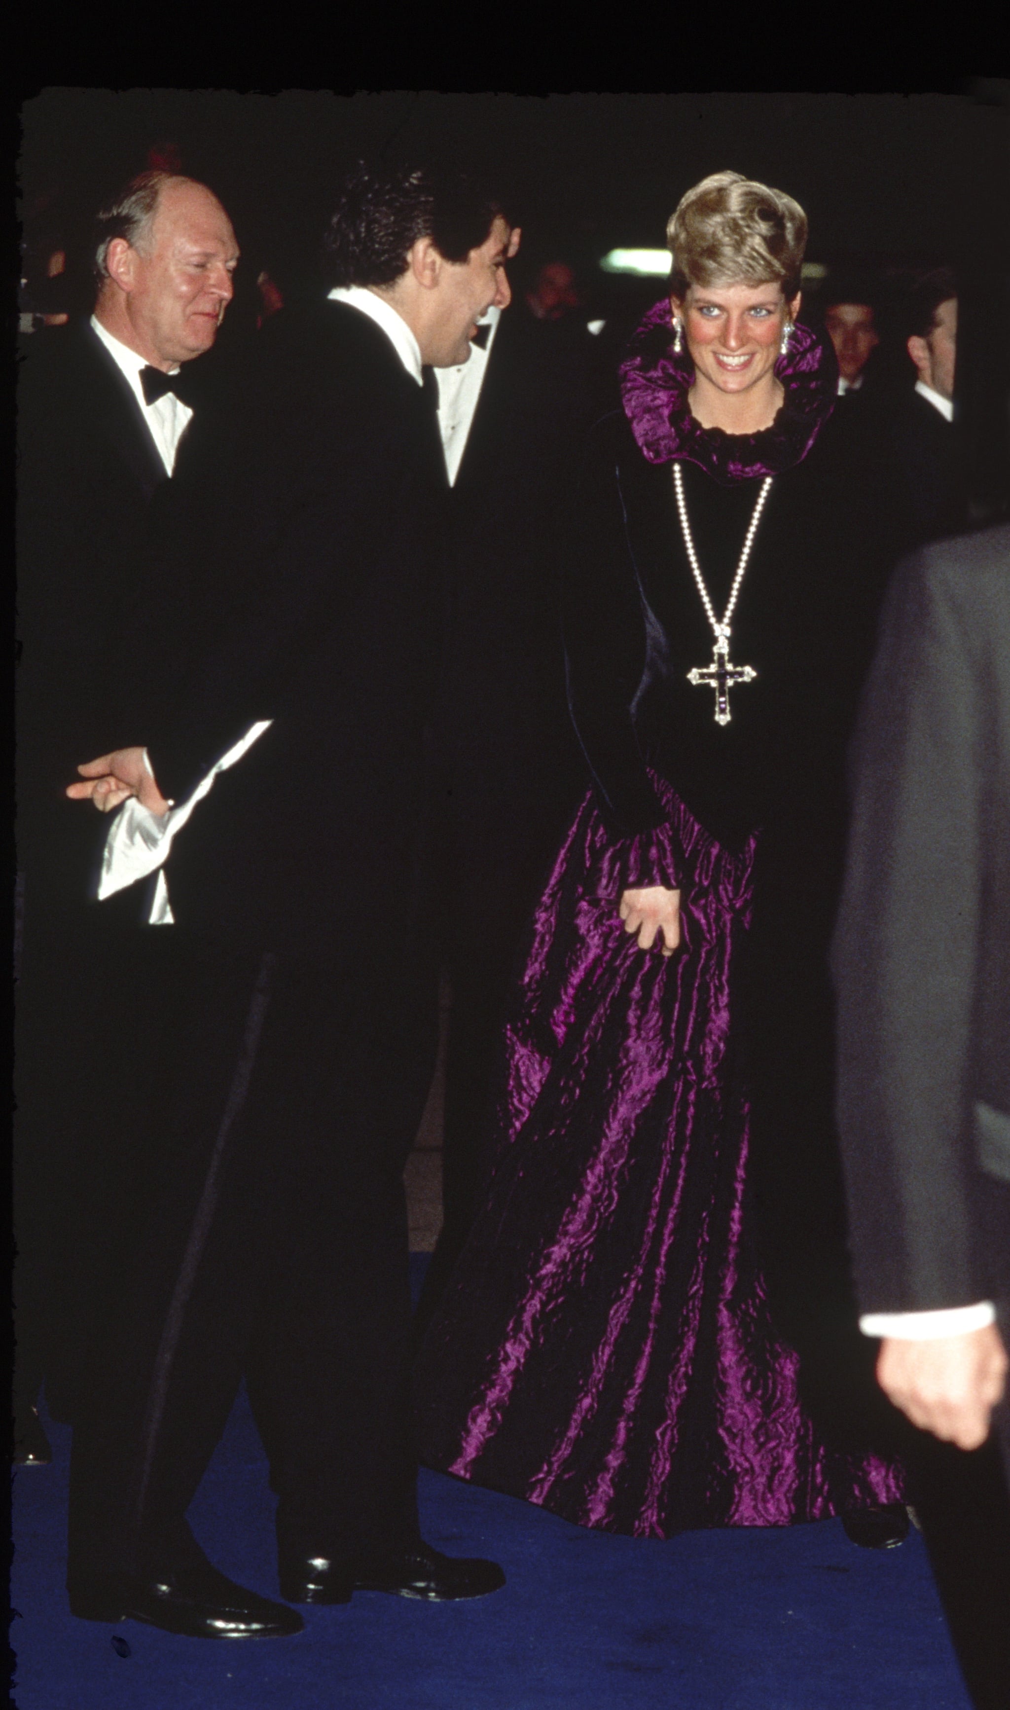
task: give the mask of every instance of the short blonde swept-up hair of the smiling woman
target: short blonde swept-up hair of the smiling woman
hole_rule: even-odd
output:
[[[784,190],[713,173],[694,185],[666,222],[673,256],[670,291],[684,299],[689,286],[781,284],[786,298],[800,289],[807,215]]]

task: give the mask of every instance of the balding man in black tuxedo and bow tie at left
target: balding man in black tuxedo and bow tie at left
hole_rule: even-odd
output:
[[[22,1465],[48,1459],[36,1412],[39,1383],[44,1370],[56,1406],[56,1365],[65,1366],[68,1353],[60,1354],[58,1344],[75,1339],[68,1306],[80,1313],[80,1298],[56,1306],[55,1272],[68,1233],[56,1231],[70,1223],[58,1209],[77,1125],[77,1060],[89,1052],[89,992],[97,964],[116,954],[113,922],[97,922],[85,903],[101,852],[97,828],[68,823],[62,783],[79,744],[97,751],[115,730],[121,619],[147,592],[142,539],[157,527],[197,405],[190,364],[215,340],[236,262],[231,221],[205,185],[142,173],[97,215],[91,320],[27,340],[21,374],[15,1460]]]

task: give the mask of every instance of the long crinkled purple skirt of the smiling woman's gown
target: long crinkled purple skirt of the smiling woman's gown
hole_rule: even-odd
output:
[[[614,845],[588,799],[506,1024],[484,1207],[417,1370],[426,1465],[643,1537],[895,1501],[901,1469],[812,1416],[771,1317],[733,1026],[755,841],[668,819]],[[680,877],[682,947],[643,952],[625,884]]]

